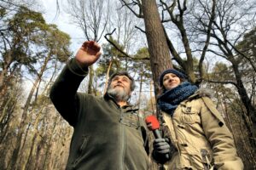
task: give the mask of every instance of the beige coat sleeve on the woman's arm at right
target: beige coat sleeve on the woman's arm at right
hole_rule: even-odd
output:
[[[220,170],[243,169],[241,159],[236,154],[236,146],[223,117],[212,100],[203,97],[201,122],[207,139],[212,145],[214,166]]]

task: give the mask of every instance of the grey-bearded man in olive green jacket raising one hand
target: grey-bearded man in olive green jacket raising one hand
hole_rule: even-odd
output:
[[[50,91],[56,110],[74,129],[66,169],[146,170],[147,127],[127,102],[133,78],[125,71],[114,73],[103,97],[77,92],[100,49],[96,42],[84,42]]]

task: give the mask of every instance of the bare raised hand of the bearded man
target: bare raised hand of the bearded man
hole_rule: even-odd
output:
[[[101,46],[94,41],[84,42],[82,47],[79,48],[75,59],[82,67],[93,65],[101,56]]]

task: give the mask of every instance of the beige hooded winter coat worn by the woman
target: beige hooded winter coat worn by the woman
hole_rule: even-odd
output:
[[[166,137],[177,151],[166,167],[174,169],[241,170],[243,164],[224,119],[204,89],[184,100],[174,115],[163,113]]]

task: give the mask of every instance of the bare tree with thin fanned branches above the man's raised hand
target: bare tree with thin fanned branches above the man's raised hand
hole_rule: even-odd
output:
[[[94,40],[99,42],[109,20],[109,1],[67,0],[67,3],[67,14],[72,17],[73,23],[84,32],[84,41]],[[90,66],[89,75],[88,94],[96,94],[92,87],[94,77],[93,66]]]

